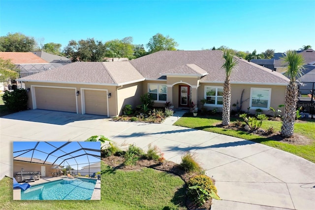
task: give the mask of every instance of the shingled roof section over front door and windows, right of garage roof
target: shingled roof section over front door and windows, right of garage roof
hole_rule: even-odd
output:
[[[237,58],[238,59],[238,58]],[[281,73],[263,68],[254,63],[238,59],[237,69],[232,71],[231,82],[236,83],[276,83],[287,84],[289,81]],[[160,78],[160,72],[179,72],[184,67],[185,73],[189,72],[186,65],[194,64],[209,74],[201,82],[224,82],[225,71],[222,51],[159,51],[147,56],[130,61],[140,73],[150,79]],[[186,66],[186,67],[185,67]]]

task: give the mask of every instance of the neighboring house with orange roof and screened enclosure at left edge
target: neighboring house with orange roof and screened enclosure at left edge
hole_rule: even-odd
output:
[[[63,66],[61,63],[48,63],[32,52],[0,52],[0,58],[11,60],[15,67],[20,70],[19,78]],[[24,88],[21,83],[10,81],[3,84],[2,90],[11,90],[16,87]]]

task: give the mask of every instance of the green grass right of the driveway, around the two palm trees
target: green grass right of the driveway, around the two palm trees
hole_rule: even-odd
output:
[[[236,121],[236,118],[231,118],[231,122]],[[242,121],[242,120],[241,120]],[[248,134],[245,131],[235,131],[230,129],[224,129],[216,127],[216,124],[221,123],[221,117],[211,116],[209,118],[204,117],[189,117],[183,116],[174,125],[183,126],[188,128],[194,128],[198,130],[224,134],[227,136],[237,137],[245,140],[252,140],[258,143],[262,143],[268,146],[272,146],[286,152],[290,152],[302,158],[305,158],[315,163],[315,121],[303,121],[296,122],[294,124],[294,133],[303,135],[311,140],[314,140],[309,145],[293,145],[275,140],[270,140],[257,135]],[[275,131],[281,130],[282,122],[266,120],[262,123],[262,129],[268,129],[269,126],[273,126]]]

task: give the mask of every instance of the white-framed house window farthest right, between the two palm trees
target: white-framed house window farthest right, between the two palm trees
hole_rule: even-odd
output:
[[[251,88],[251,109],[269,110],[271,88]]]

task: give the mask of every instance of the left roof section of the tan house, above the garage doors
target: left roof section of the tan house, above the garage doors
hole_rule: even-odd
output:
[[[141,80],[144,80],[144,77],[128,62],[75,62],[19,79],[101,85],[122,85]]]

